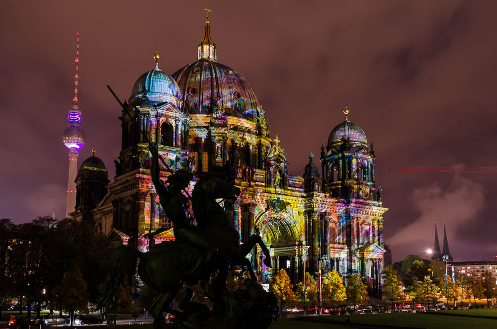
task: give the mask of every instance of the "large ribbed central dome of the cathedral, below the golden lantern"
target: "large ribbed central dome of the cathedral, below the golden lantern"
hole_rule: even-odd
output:
[[[226,65],[198,60],[179,69],[172,77],[192,114],[208,113],[211,104],[224,108],[226,115],[246,117],[263,113],[247,80]]]

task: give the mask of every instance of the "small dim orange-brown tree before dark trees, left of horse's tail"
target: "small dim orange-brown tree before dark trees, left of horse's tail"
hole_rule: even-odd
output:
[[[89,294],[86,280],[83,279],[80,266],[75,263],[66,271],[62,284],[54,288],[56,307],[71,316],[71,327],[74,323],[74,313],[76,311],[88,314],[87,304]]]

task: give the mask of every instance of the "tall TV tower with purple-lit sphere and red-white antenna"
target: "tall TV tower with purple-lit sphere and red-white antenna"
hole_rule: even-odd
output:
[[[64,130],[62,140],[64,145],[69,149],[69,179],[67,183],[67,203],[66,217],[74,211],[76,206],[76,174],[78,173],[78,151],[83,147],[86,135],[81,129],[81,111],[78,107],[78,64],[80,63],[80,34],[76,33],[76,76],[74,76],[74,99],[73,107],[69,110],[67,121],[69,127]]]

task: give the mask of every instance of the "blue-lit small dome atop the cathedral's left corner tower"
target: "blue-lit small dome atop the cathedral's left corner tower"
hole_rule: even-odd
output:
[[[138,78],[131,95],[147,99],[151,103],[176,102],[181,99],[181,92],[176,81],[157,67]],[[171,99],[172,97],[176,99]]]

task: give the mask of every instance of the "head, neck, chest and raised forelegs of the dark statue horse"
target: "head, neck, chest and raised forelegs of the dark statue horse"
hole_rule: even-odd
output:
[[[227,184],[212,174],[203,173],[192,192],[193,214],[198,227],[218,248],[218,254],[222,258],[227,258],[233,265],[247,266],[250,277],[256,280],[246,256],[258,244],[265,256],[264,264],[271,267],[269,250],[262,242],[262,238],[256,234],[250,236],[247,242],[240,244],[240,235],[233,228],[223,207],[216,202],[219,198],[236,200],[235,195],[239,194],[238,187]]]

